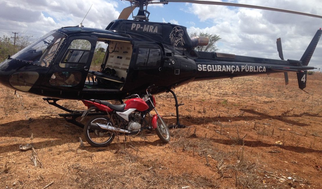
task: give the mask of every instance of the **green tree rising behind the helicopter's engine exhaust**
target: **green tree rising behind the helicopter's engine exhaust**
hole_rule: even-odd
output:
[[[190,37],[194,36],[206,36],[209,38],[209,43],[208,45],[203,45],[203,46],[196,46],[194,49],[196,51],[205,51],[205,52],[213,52],[213,51],[218,51],[219,49],[216,46],[216,42],[221,39],[220,35],[216,34],[208,34],[204,32],[200,32],[199,34],[197,32],[192,32],[189,34]]]

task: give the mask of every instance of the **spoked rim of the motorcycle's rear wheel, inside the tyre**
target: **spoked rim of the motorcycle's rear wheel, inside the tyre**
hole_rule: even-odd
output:
[[[100,124],[109,124],[107,118],[96,118],[91,123],[100,123]],[[105,144],[108,143],[111,139],[113,140],[113,132],[108,130],[95,130],[91,129],[90,126],[87,129],[87,134],[89,139],[95,144]]]

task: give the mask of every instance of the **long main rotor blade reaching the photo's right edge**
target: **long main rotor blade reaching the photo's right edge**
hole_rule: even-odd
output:
[[[177,3],[196,3],[196,4],[203,4],[203,5],[224,5],[224,6],[237,6],[237,7],[245,7],[245,8],[255,8],[255,9],[262,9],[262,10],[270,10],[270,11],[277,11],[283,13],[291,13],[297,15],[304,15],[304,16],[311,16],[316,18],[322,18],[321,15],[313,15],[308,13],[302,13],[297,11],[279,9],[279,8],[272,8],[266,6],[256,6],[256,5],[246,5],[246,4],[238,4],[238,3],[228,3],[228,2],[217,2],[217,1],[201,1],[201,0],[166,0],[167,2],[177,2]]]

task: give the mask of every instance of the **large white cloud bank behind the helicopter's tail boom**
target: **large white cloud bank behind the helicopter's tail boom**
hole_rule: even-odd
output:
[[[234,3],[236,1],[233,1]],[[318,14],[322,12],[319,0],[238,0],[237,3],[284,8]],[[220,52],[237,55],[279,59],[276,39],[282,37],[283,54],[286,59],[299,60],[321,19],[267,10],[232,8],[217,5],[188,5],[188,10],[201,22],[210,22],[208,27],[188,28],[189,32],[207,32],[222,37]],[[322,41],[322,40],[321,40]],[[322,51],[319,42],[309,65],[322,67]]]

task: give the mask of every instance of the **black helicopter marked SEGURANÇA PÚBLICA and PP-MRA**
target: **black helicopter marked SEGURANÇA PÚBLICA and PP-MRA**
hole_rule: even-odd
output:
[[[264,9],[322,18],[320,15],[270,7],[229,2],[200,0],[127,0],[117,20],[105,29],[82,25],[67,26],[51,31],[0,64],[0,83],[15,91],[44,98],[49,104],[69,114],[60,114],[68,122],[76,121],[80,111],[67,109],[60,99],[119,100],[131,94],[143,94],[148,86],[151,94],[171,92],[175,98],[177,125],[178,104],[175,87],[193,81],[233,78],[248,75],[296,72],[300,89],[306,87],[308,63],[322,34],[319,28],[300,60],[284,60],[280,38],[277,49],[281,60],[241,56],[218,52],[196,51],[208,45],[204,36],[190,37],[182,25],[150,22],[149,4],[197,3]],[[137,15],[133,11],[139,8]],[[128,20],[132,14],[133,20]],[[97,44],[106,45],[99,70],[91,63]],[[96,114],[96,113],[93,113]]]

